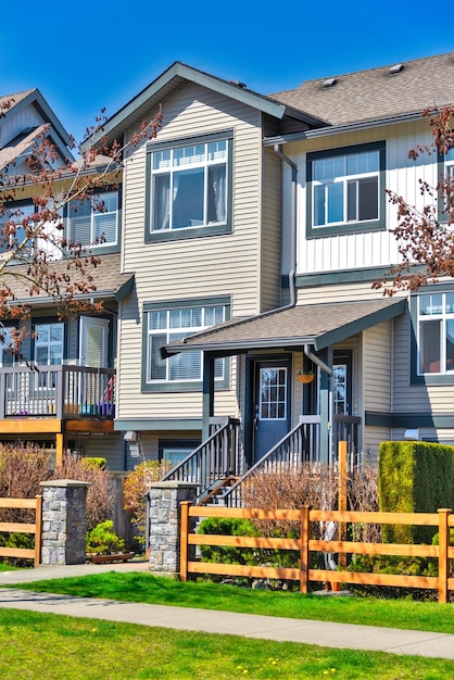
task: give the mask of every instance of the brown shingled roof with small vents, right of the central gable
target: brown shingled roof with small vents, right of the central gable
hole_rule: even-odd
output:
[[[328,126],[420,117],[426,108],[454,101],[454,52],[306,80],[272,97]]]

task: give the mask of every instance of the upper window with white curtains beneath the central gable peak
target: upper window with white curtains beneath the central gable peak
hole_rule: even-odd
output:
[[[225,133],[149,147],[148,241],[230,230],[231,147]]]

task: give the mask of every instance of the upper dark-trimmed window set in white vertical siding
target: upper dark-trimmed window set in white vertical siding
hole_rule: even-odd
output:
[[[384,143],[307,154],[307,236],[383,227]]]

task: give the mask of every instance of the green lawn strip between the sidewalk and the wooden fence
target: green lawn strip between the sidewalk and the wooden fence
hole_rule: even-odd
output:
[[[148,572],[110,571],[79,578],[35,581],[20,584],[18,588],[81,597],[106,597],[454,634],[453,606],[436,602],[301,595],[298,592],[251,590],[219,583],[182,583]]]

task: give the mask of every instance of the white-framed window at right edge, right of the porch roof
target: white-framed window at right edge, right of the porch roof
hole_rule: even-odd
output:
[[[418,375],[454,373],[454,293],[417,297]]]

